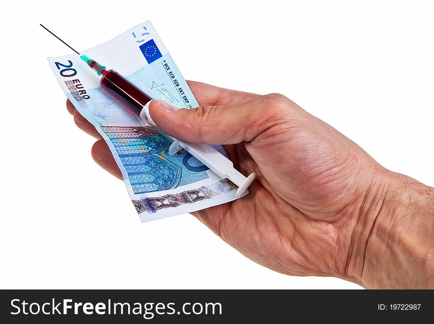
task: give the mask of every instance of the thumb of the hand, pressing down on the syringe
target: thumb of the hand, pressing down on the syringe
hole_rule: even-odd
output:
[[[270,94],[229,106],[178,109],[166,102],[152,100],[149,114],[164,133],[182,142],[237,144],[251,142],[265,130],[281,123],[281,113],[288,107],[288,102],[289,99],[283,95]]]

